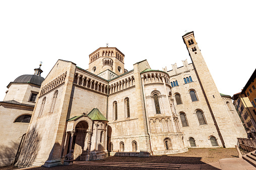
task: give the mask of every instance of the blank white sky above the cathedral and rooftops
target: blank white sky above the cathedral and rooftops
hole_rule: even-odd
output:
[[[128,71],[191,63],[195,39],[220,93],[241,91],[255,70],[256,1],[0,1],[0,101],[18,76],[46,77],[58,59],[87,69],[89,54],[116,47]]]

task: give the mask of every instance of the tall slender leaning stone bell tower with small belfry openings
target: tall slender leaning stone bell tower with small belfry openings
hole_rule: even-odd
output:
[[[229,119],[221,95],[198,47],[194,32],[186,33],[182,38],[193,65],[195,66],[195,72],[199,79],[199,83],[222,145],[223,147],[233,147],[237,141],[236,135],[234,135],[236,134],[235,129],[230,128],[233,127],[232,122]]]

